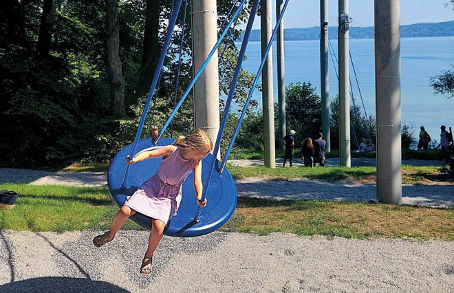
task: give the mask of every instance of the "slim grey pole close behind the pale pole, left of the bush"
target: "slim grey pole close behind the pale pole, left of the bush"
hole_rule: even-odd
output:
[[[276,19],[279,19],[283,8],[283,0],[276,0]],[[277,100],[279,104],[279,149],[284,149],[282,138],[286,135],[285,129],[285,70],[284,70],[284,32],[283,19],[277,30]]]

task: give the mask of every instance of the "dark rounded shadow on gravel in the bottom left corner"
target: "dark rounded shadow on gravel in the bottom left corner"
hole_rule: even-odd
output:
[[[0,292],[114,292],[129,293],[129,291],[102,281],[89,279],[67,278],[63,276],[49,276],[43,278],[27,279],[0,285]]]

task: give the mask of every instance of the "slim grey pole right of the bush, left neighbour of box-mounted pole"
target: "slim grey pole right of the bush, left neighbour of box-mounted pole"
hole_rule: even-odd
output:
[[[329,138],[329,76],[328,76],[328,0],[320,0],[320,91],[322,133],[326,141],[325,151],[331,151]]]

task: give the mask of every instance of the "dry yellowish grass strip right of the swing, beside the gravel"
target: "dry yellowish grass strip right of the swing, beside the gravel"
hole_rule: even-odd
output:
[[[454,241],[454,208],[391,206],[366,202],[239,199],[225,232],[326,235],[370,239]]]

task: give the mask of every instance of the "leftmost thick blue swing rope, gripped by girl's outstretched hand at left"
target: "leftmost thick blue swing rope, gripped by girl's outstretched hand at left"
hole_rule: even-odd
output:
[[[136,138],[134,139],[133,146],[131,148],[131,153],[129,153],[129,157],[131,158],[131,160],[132,160],[132,155],[136,152],[136,147],[137,147],[137,144],[140,139],[140,133],[142,133],[142,128],[144,127],[145,118],[147,117],[147,113],[148,113],[148,110],[149,110],[149,107],[151,104],[151,98],[153,96],[153,92],[155,91],[156,84],[158,83],[159,72],[161,71],[162,66],[164,65],[164,58],[166,57],[166,52],[167,52],[167,49],[169,48],[172,32],[173,32],[173,29],[175,28],[175,23],[177,21],[178,12],[180,11],[180,8],[182,6],[182,0],[176,0],[176,1],[177,1],[176,8],[171,13],[171,17],[169,20],[169,26],[167,27],[166,38],[164,39],[164,44],[162,45],[162,51],[161,51],[161,54],[160,54],[160,57],[158,60],[158,64],[156,65],[155,75],[153,76],[153,81],[151,82],[151,87],[150,87],[150,91],[149,91],[149,94],[147,97],[147,102],[145,103],[144,111],[142,113],[142,118],[140,118],[140,123],[139,123],[139,128],[137,129]],[[131,165],[127,166],[127,169],[125,171],[125,177],[123,177],[122,186],[125,186],[125,182],[127,180],[127,174],[129,171],[129,166],[131,166]]]

